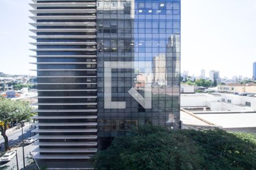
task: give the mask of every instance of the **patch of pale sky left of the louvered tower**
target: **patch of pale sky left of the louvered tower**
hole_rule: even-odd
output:
[[[34,58],[28,57],[30,48],[29,42],[33,40],[28,37],[32,35],[28,29],[32,27],[31,16],[28,9],[31,7],[30,0],[1,0],[0,1],[0,72],[8,74],[36,74],[32,69],[33,65],[28,62],[35,62]]]

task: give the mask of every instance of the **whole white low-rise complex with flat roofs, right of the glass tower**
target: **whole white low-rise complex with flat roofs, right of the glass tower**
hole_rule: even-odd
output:
[[[181,94],[181,129],[256,133],[256,97],[234,94]]]

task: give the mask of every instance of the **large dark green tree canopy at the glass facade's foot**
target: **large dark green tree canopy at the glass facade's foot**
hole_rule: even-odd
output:
[[[96,169],[255,169],[256,135],[144,126],[93,158]]]

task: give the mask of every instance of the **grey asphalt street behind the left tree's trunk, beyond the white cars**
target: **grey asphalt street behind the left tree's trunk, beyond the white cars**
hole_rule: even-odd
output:
[[[31,128],[32,130],[32,128]],[[31,133],[31,135],[34,135],[34,133]],[[22,131],[21,129],[14,131],[11,134],[7,134],[7,137],[9,138],[9,146],[15,147],[19,145],[20,142],[22,142]],[[23,127],[23,137],[24,139],[27,139],[30,137],[30,128],[29,126]],[[3,140],[3,137],[0,136],[0,155],[2,155],[2,152],[5,151],[5,141]]]

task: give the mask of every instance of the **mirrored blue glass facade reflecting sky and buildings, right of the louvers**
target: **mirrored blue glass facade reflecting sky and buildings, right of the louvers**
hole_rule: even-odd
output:
[[[104,91],[105,62],[132,62],[130,69],[112,68],[111,94]],[[143,62],[150,62],[150,73]],[[148,67],[148,66],[147,66]],[[98,145],[144,124],[179,128],[180,1],[97,1]],[[151,108],[129,90],[144,96],[151,86]],[[109,100],[125,108],[106,108]],[[105,105],[104,105],[105,104]]]

